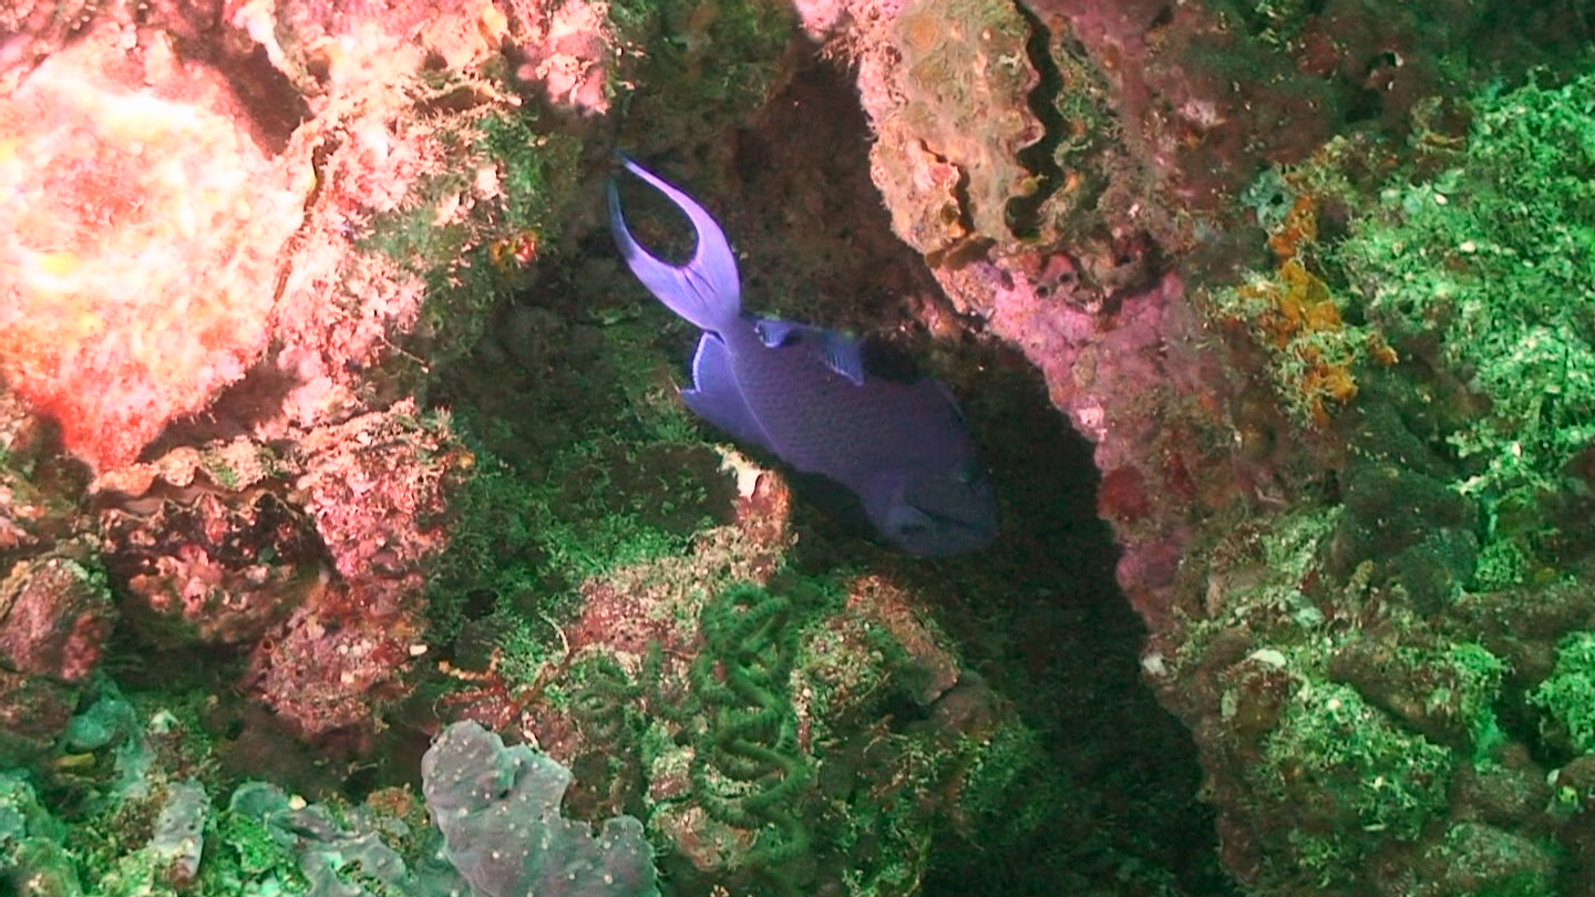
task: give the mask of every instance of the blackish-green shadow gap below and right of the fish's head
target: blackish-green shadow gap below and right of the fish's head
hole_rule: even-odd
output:
[[[924,894],[1231,894],[1190,734],[1140,680],[1145,627],[1113,579],[1091,445],[1021,359],[984,354],[968,413],[1002,484],[1005,535],[971,563],[900,576],[936,600],[965,661],[1040,744],[1016,800],[938,838]]]

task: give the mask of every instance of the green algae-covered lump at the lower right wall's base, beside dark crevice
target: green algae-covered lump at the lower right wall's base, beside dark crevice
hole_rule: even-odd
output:
[[[1459,774],[1498,768],[1512,737],[1501,718],[1509,664],[1402,610],[1400,592],[1373,584],[1372,562],[1329,591],[1302,591],[1322,576],[1345,517],[1341,506],[1302,506],[1243,525],[1215,555],[1212,618],[1193,621],[1182,651],[1153,669],[1190,675],[1235,658],[1214,699],[1223,750],[1254,758],[1236,763],[1260,827],[1255,894],[1356,894],[1373,886],[1375,857],[1437,849],[1432,824],[1450,812]],[[1346,626],[1370,613],[1386,619]],[[1525,857],[1542,860],[1539,848]]]

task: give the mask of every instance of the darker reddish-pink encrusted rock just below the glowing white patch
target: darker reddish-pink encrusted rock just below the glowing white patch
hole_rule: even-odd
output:
[[[308,739],[360,747],[419,656],[426,562],[472,456],[413,402],[276,453],[182,447],[96,480],[123,610],[163,646],[247,650],[244,690]]]

